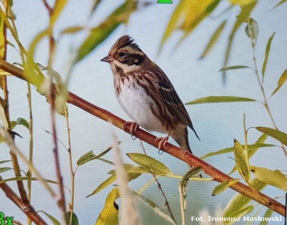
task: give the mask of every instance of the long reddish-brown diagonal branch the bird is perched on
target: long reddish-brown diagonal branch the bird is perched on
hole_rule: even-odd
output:
[[[6,62],[3,60],[0,60],[0,68],[3,70],[15,75],[16,77],[20,79],[25,80],[25,75],[23,73],[23,70]],[[69,92],[67,102],[71,103],[105,121],[108,121],[109,123],[115,125],[116,127],[124,130],[127,133],[130,133],[130,124],[125,124],[125,120],[122,118],[112,114],[111,112],[102,109],[96,105],[91,104],[90,102],[80,98],[79,96]],[[134,133],[134,136],[137,138],[153,145],[154,147],[158,147],[158,142],[155,141],[156,136],[138,128],[136,132]],[[217,182],[224,182],[227,180],[232,179],[227,174],[221,172],[220,170],[216,169],[212,165],[206,163],[205,161],[201,160],[200,158],[196,157],[193,154],[190,154],[188,152],[183,152],[180,148],[170,144],[166,143],[165,147],[161,150],[171,154],[172,156],[187,162],[188,164],[192,166],[200,166],[202,170],[209,176],[213,177],[213,179]],[[266,207],[272,209],[273,211],[276,211],[277,213],[285,216],[285,206],[281,204],[280,202],[276,201],[275,199],[272,199],[268,197],[267,195],[258,192],[254,193],[253,190],[246,186],[245,184],[241,182],[236,182],[230,186],[233,190],[237,191],[238,193],[241,193],[245,195],[246,197],[249,197],[258,203],[265,205]]]

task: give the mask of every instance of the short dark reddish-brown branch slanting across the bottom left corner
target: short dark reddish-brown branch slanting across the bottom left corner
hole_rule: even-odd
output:
[[[0,176],[0,181],[2,177]],[[5,192],[6,196],[13,201],[35,224],[46,225],[47,223],[35,211],[34,207],[28,203],[24,204],[22,199],[11,189],[6,183],[0,183],[0,188]]]

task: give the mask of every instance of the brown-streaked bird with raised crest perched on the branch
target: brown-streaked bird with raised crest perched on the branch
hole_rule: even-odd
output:
[[[187,126],[199,137],[184,104],[167,75],[132,37],[119,37],[100,61],[110,65],[117,101],[133,120],[130,132],[139,125],[147,131],[165,133],[165,137],[156,138],[158,149],[171,136],[183,151],[192,153]]]

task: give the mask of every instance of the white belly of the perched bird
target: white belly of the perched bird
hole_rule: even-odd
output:
[[[150,103],[154,104],[154,101],[145,94],[142,87],[136,87],[121,85],[121,92],[116,97],[124,112],[146,130],[167,133],[150,109]]]

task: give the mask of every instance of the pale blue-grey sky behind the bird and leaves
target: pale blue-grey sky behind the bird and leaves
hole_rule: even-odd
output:
[[[156,0],[154,0],[155,2]],[[49,1],[53,2],[53,1]],[[111,3],[112,2],[112,3]],[[66,76],[69,52],[84,40],[87,32],[60,36],[60,31],[69,26],[82,25],[93,27],[105,18],[111,11],[120,5],[123,0],[115,1],[102,0],[92,18],[88,21],[88,15],[92,0],[78,1],[70,0],[66,5],[59,21],[55,27],[55,38],[57,41],[57,53],[53,67],[63,77]],[[173,83],[181,100],[186,103],[190,100],[208,95],[234,95],[250,97],[262,100],[262,95],[255,77],[250,69],[238,69],[227,72],[226,86],[222,85],[221,73],[218,70],[222,67],[227,38],[235,15],[239,12],[239,7],[222,13],[228,6],[227,0],[222,0],[215,11],[205,19],[176,49],[174,46],[181,36],[181,31],[176,31],[168,39],[162,52],[156,56],[158,46],[170,18],[176,7],[177,0],[173,4],[156,4],[141,9],[132,14],[127,25],[120,25],[100,46],[91,52],[74,67],[69,80],[68,89],[84,98],[85,100],[107,109],[112,113],[129,120],[116,101],[112,74],[107,63],[99,61],[105,56],[113,42],[123,34],[130,34],[141,47],[141,49],[165,71]],[[259,35],[257,38],[256,59],[259,70],[264,60],[265,45],[269,36],[275,32],[269,61],[265,73],[265,89],[269,96],[277,85],[277,80],[281,73],[286,69],[287,58],[287,4],[270,10],[278,1],[260,1],[253,10],[251,16],[259,25]],[[20,40],[27,49],[33,37],[48,24],[48,15],[41,0],[14,0],[13,10],[17,16],[16,25]],[[222,37],[215,45],[212,52],[203,60],[199,60],[205,45],[210,36],[225,18],[228,23],[222,33]],[[241,26],[234,38],[231,50],[229,65],[247,65],[253,67],[252,51],[250,40],[244,32],[245,25]],[[9,40],[15,43],[9,36]],[[47,39],[41,41],[37,47],[35,61],[43,65],[47,64],[48,45]],[[9,62],[20,62],[17,52],[9,48]],[[26,100],[26,83],[15,77],[8,77],[10,115],[12,120],[24,117],[28,120],[28,106]],[[286,110],[286,85],[269,100],[270,108],[275,121],[280,130],[286,132],[287,119]],[[49,104],[45,98],[39,95],[35,88],[32,88],[33,119],[34,119],[34,164],[41,174],[48,179],[55,178],[54,160],[52,154],[51,136],[44,129],[50,130]],[[263,108],[258,102],[235,102],[235,103],[213,103],[186,105],[186,109],[192,119],[194,127],[200,136],[198,141],[191,130],[189,130],[189,142],[192,151],[197,156],[202,156],[210,151],[219,150],[233,145],[233,138],[244,142],[242,119],[243,113],[246,114],[246,125],[249,126],[270,126],[272,123]],[[98,154],[102,149],[109,146],[112,142],[111,133],[115,132],[121,141],[121,150],[126,152],[142,152],[138,140],[131,140],[130,135],[113,127],[85,111],[69,105],[69,122],[71,128],[72,154],[74,166],[76,160],[85,152],[93,150]],[[67,134],[65,120],[57,115],[58,138],[67,145]],[[28,155],[29,135],[26,128],[17,126],[15,131],[24,138],[16,139],[16,144],[20,150]],[[255,129],[250,129],[248,135],[249,143],[253,143],[261,133]],[[170,140],[172,143],[173,140]],[[267,143],[278,144],[271,138]],[[1,144],[1,159],[10,159],[8,148]],[[174,173],[183,174],[187,170],[184,162],[181,162],[166,153],[158,155],[157,149],[144,144],[147,153],[160,160]],[[66,150],[59,144],[59,154],[61,161],[61,171],[64,177],[64,184],[70,187],[68,155]],[[228,173],[234,165],[234,161],[228,156],[233,157],[232,153],[207,158],[206,161],[223,172]],[[123,155],[124,161],[132,163],[127,156]],[[113,160],[113,152],[106,155],[107,159]],[[264,166],[269,169],[280,169],[286,171],[286,157],[278,147],[261,148],[251,158],[250,163],[255,166]],[[21,162],[22,168],[26,166]],[[4,164],[3,166],[8,166]],[[9,165],[10,166],[10,165]],[[93,224],[103,208],[107,193],[112,186],[104,189],[100,193],[86,198],[109,175],[106,174],[113,167],[100,161],[92,161],[77,170],[75,179],[75,213],[79,218],[80,224]],[[1,174],[4,178],[13,176],[12,172]],[[237,173],[233,174],[238,178]],[[138,179],[130,183],[134,190],[140,189],[144,183],[150,180],[151,175],[141,175]],[[178,180],[171,178],[160,178],[159,181],[166,191],[169,202],[173,208],[175,219],[180,221],[179,201],[178,201]],[[16,190],[14,182],[9,185]],[[230,197],[235,191],[228,189],[223,194],[211,196],[211,191],[216,182],[193,182],[188,185],[186,219],[190,224],[191,216],[198,216],[198,211],[204,208],[211,212],[215,208],[224,208]],[[60,219],[60,211],[47,191],[39,182],[33,182],[32,205],[36,210],[45,210],[56,218]],[[52,185],[54,190],[58,190],[56,185]],[[267,187],[263,192],[271,197],[283,196],[283,191],[275,187]],[[143,192],[145,197],[150,198],[159,206],[164,208],[162,197],[155,184]],[[25,223],[25,215],[0,191],[1,207],[6,216],[14,216],[14,219]],[[70,195],[66,190],[66,200]],[[282,198],[279,199],[284,202]],[[119,202],[119,201],[118,201]],[[219,202],[219,203],[218,203]],[[142,224],[151,224],[157,215],[146,209],[141,204],[138,205],[142,214]],[[260,208],[260,206],[258,207]],[[261,214],[265,211],[262,208]],[[254,210],[250,215],[253,215]],[[273,215],[278,215],[274,213]],[[43,217],[45,217],[43,215]],[[46,221],[49,221],[45,217]],[[163,219],[157,220],[160,224],[168,224]],[[195,223],[194,223],[195,224]],[[238,223],[244,224],[244,223]],[[256,223],[254,223],[256,224]],[[275,224],[275,223],[274,223]],[[279,224],[279,223],[278,223]]]

